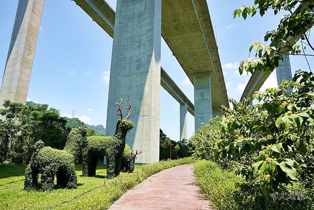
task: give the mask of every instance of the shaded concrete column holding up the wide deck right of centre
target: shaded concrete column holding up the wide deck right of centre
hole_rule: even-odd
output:
[[[194,73],[195,131],[212,118],[212,96],[209,72]]]

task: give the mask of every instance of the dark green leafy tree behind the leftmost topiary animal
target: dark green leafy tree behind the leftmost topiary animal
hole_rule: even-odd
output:
[[[63,149],[69,128],[66,127],[66,120],[59,117],[58,110],[48,110],[46,104],[30,106],[9,100],[5,100],[3,106],[5,109],[0,110],[0,115],[5,116],[5,122],[14,122],[14,131],[19,132],[15,133],[16,138],[11,138],[13,151],[23,153],[25,162],[29,162],[33,145],[38,140],[46,146]]]

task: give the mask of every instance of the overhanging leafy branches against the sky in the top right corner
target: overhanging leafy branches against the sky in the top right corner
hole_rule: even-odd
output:
[[[294,8],[297,9],[294,10]],[[279,60],[283,60],[284,55],[303,55],[311,56],[305,53],[307,44],[311,50],[314,50],[309,41],[310,30],[314,20],[314,1],[313,0],[254,0],[254,4],[250,7],[243,5],[240,9],[233,12],[234,18],[242,15],[244,19],[251,14],[253,17],[257,12],[261,16],[268,10],[273,10],[274,14],[278,14],[280,10],[286,11],[280,20],[277,30],[268,31],[264,37],[264,41],[272,41],[271,45],[262,44],[261,42],[253,42],[250,47],[250,53],[254,48],[256,60],[242,60],[239,67],[240,74],[243,71],[251,72],[254,70],[264,71],[268,74],[279,66]],[[290,38],[292,37],[292,38]],[[301,38],[301,45],[295,45],[296,41]],[[262,52],[266,51],[263,55]],[[309,69],[311,67],[309,65]]]

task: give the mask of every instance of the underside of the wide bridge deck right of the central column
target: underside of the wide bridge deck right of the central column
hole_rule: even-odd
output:
[[[161,35],[192,84],[194,84],[194,73],[209,71],[212,107],[220,107],[220,105],[229,107],[224,76],[205,0],[197,1],[195,7],[191,0],[163,0]]]

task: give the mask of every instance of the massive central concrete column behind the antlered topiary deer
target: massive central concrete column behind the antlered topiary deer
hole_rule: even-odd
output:
[[[129,101],[135,127],[126,143],[144,151],[138,163],[159,162],[161,0],[117,0],[116,8],[106,135],[116,130],[115,103]]]

